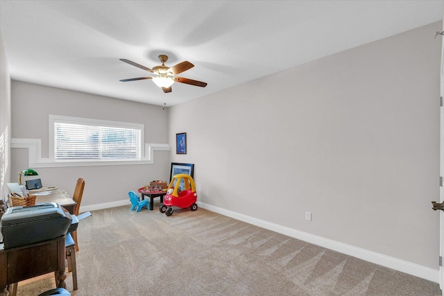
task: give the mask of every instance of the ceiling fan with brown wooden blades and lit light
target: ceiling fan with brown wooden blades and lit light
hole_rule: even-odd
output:
[[[170,67],[165,66],[165,62],[167,62],[168,56],[167,55],[159,55],[159,60],[160,60],[160,62],[162,62],[162,66],[156,66],[156,67],[153,67],[153,69],[149,69],[145,66],[142,66],[142,64],[137,64],[137,62],[132,62],[132,61],[126,60],[126,59],[120,59],[120,60],[122,62],[126,62],[127,64],[132,64],[133,66],[140,68],[142,70],[145,70],[145,71],[155,74],[155,76],[129,78],[129,79],[119,80],[122,82],[153,79],[153,82],[155,83],[155,85],[162,88],[164,93],[171,92],[171,85],[173,85],[174,82],[185,83],[187,85],[195,85],[196,87],[206,87],[207,86],[206,82],[176,76],[177,74],[185,72],[185,71],[191,69],[192,67],[194,67],[194,64],[191,64],[191,62],[188,62],[188,61],[180,62],[179,64],[176,64],[176,66],[173,66],[170,68]]]

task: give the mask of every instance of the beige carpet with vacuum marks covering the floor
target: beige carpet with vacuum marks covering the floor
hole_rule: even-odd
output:
[[[431,281],[205,209],[94,211],[78,239],[76,296],[441,295]],[[20,282],[17,295],[54,287],[46,275]]]

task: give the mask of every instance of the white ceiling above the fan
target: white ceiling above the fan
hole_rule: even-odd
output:
[[[0,33],[12,79],[167,106],[443,19],[443,1],[12,1]],[[434,37],[431,33],[431,38]],[[148,68],[188,60],[164,94]]]

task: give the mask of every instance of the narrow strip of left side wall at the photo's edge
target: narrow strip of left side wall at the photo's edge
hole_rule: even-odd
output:
[[[10,74],[0,35],[0,199],[6,200],[10,182],[11,96]]]

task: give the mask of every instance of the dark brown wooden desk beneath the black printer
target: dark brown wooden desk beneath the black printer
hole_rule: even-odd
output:
[[[12,291],[14,283],[54,271],[58,272],[57,287],[66,288],[65,236],[6,250],[3,244],[0,245],[1,296],[8,296],[8,290],[11,296],[15,296],[16,291]]]

